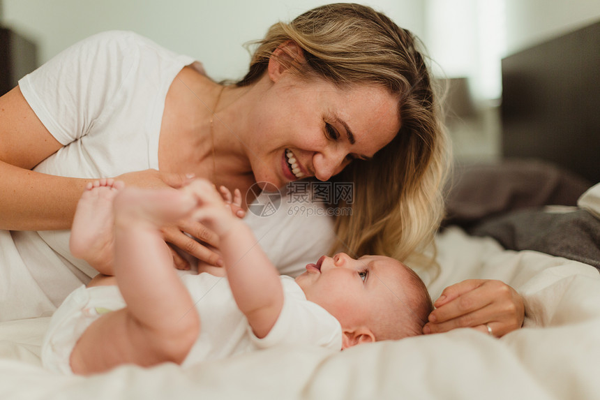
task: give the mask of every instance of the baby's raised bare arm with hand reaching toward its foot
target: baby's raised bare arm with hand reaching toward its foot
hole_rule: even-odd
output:
[[[257,337],[267,336],[283,308],[283,287],[276,267],[248,225],[224,207],[212,184],[197,181],[188,188],[200,200],[195,217],[220,238],[227,279],[238,308]]]

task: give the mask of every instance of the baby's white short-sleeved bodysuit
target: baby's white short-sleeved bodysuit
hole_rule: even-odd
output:
[[[313,344],[341,350],[342,328],[338,320],[321,306],[309,302],[290,276],[281,276],[283,309],[267,336],[259,339],[239,311],[227,279],[210,274],[182,277],[200,314],[200,336],[190,349],[183,366],[225,358],[251,350],[282,344]],[[81,286],[59,307],[43,340],[41,357],[45,368],[71,373],[69,359],[73,347],[101,313],[125,306],[117,286]]]

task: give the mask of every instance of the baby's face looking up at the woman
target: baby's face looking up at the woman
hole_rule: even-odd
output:
[[[342,327],[369,318],[386,318],[403,301],[405,266],[393,258],[365,255],[357,260],[345,253],[322,256],[296,278],[306,299],[336,317]]]

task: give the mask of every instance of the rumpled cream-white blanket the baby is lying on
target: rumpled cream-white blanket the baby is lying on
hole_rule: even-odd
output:
[[[40,366],[48,318],[0,323],[0,399],[598,399],[600,275],[450,228],[429,288],[500,279],[526,300],[525,327],[502,339],[473,329],[361,345],[287,347],[183,370],[121,366],[88,378]]]

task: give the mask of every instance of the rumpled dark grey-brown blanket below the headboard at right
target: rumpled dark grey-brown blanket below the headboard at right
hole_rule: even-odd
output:
[[[556,214],[544,205],[576,206],[590,182],[539,160],[457,165],[444,225],[491,236],[510,250],[535,250],[600,270],[600,220],[583,210]]]

